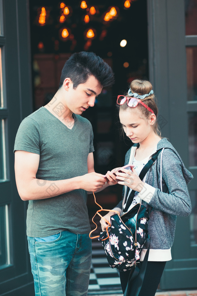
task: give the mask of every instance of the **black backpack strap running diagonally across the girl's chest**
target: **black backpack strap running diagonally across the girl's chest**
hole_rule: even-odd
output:
[[[157,152],[155,152],[152,156],[152,158],[146,163],[146,165],[144,165],[144,168],[141,170],[140,174],[139,174],[139,178],[142,181],[144,179],[144,176],[146,175],[146,173],[148,172],[149,168],[155,163],[155,160],[157,159],[159,153],[162,151],[163,148],[157,150]],[[129,187],[127,186],[127,192],[126,192],[126,196],[128,194],[128,190]],[[130,207],[132,201],[133,201],[133,197],[135,195],[135,190],[131,191],[131,194],[128,197],[128,200],[126,201],[126,207],[124,208],[124,212],[126,213],[128,211],[128,208]]]

